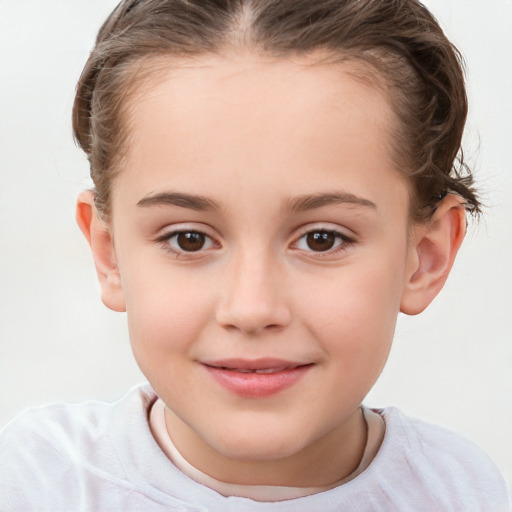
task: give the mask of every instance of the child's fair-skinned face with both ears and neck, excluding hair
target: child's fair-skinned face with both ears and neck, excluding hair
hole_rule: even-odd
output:
[[[329,485],[359,464],[361,401],[399,311],[443,286],[464,208],[449,195],[411,227],[394,114],[349,64],[184,64],[130,100],[111,217],[92,193],[78,200],[103,301],[127,311],[191,464],[232,483]],[[257,366],[268,373],[248,376]]]

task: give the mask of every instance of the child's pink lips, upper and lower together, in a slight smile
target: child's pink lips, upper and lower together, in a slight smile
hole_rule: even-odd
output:
[[[224,388],[245,398],[274,395],[295,384],[312,367],[282,359],[225,359],[202,364]]]

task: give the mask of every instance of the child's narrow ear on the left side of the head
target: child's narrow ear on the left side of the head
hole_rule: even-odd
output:
[[[103,304],[113,311],[126,311],[114,241],[108,225],[98,214],[94,204],[94,193],[91,190],[86,190],[78,196],[76,221],[91,246]]]

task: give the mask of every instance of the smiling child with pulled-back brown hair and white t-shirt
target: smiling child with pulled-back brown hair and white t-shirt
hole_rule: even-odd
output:
[[[77,220],[149,385],[12,422],[4,508],[510,510],[470,442],[361,405],[480,210],[466,111],[416,1],[122,2]]]

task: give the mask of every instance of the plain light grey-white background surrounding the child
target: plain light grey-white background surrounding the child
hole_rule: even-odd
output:
[[[142,380],[74,222],[90,183],[71,138],[73,91],[115,3],[0,0],[0,424],[49,401],[115,399]],[[462,432],[511,482],[512,2],[425,3],[468,62],[467,155],[488,209],[440,297],[400,317],[367,403]]]

